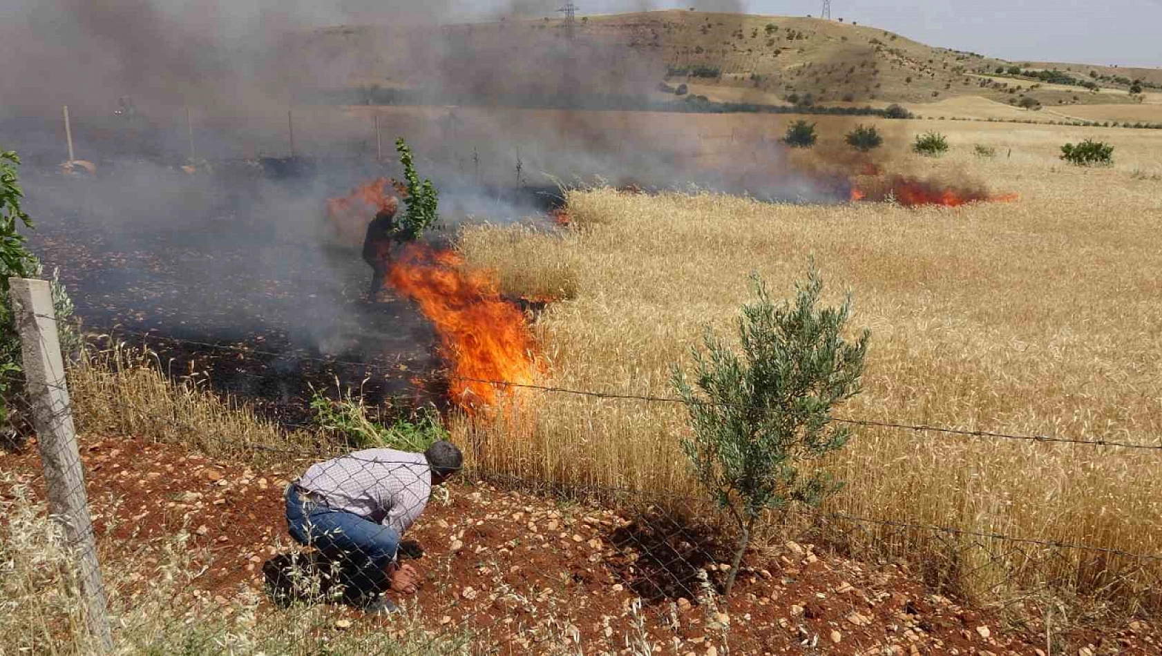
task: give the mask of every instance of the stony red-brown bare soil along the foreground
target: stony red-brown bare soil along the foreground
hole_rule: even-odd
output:
[[[105,567],[120,560],[115,567],[139,567],[148,581],[151,563],[142,549],[185,527],[206,568],[191,583],[194,594],[222,600],[242,587],[261,591],[261,563],[289,543],[284,488],[309,464],[288,459],[259,470],[108,438],[84,440],[81,453]],[[0,464],[34,489],[42,484],[34,445]],[[544,653],[547,642],[529,636],[553,634],[575,636],[584,653],[617,654],[625,636],[639,633],[662,653],[681,655],[723,646],[734,654],[1046,654],[1035,623],[1006,626],[996,614],[934,593],[897,565],[795,542],[763,550],[740,572],[730,603],[713,608],[697,598],[695,577],[701,570],[720,581],[724,565],[698,562],[704,554],[696,548],[655,550],[664,538],[697,542],[701,533],[625,517],[487,483],[452,485],[409,534],[426,550],[416,563],[423,583],[414,603],[428,626],[466,627],[502,654]],[[690,562],[669,558],[683,561],[670,564],[670,576],[659,561],[675,554]],[[646,601],[634,613],[638,597]],[[1143,622],[1075,630],[1069,654],[1159,654],[1156,635]]]

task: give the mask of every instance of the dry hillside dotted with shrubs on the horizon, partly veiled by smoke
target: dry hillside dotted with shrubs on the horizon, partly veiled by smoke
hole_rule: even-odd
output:
[[[476,96],[568,89],[673,99],[684,84],[690,95],[768,104],[1162,98],[1153,93],[1162,91],[1162,71],[1005,62],[820,19],[662,10],[582,17],[572,42],[567,30],[557,19],[444,26],[439,34],[339,27],[313,33],[296,50],[309,67],[350,71],[349,85],[426,89],[435,75],[435,86]],[[1128,93],[1138,80],[1145,98]]]

